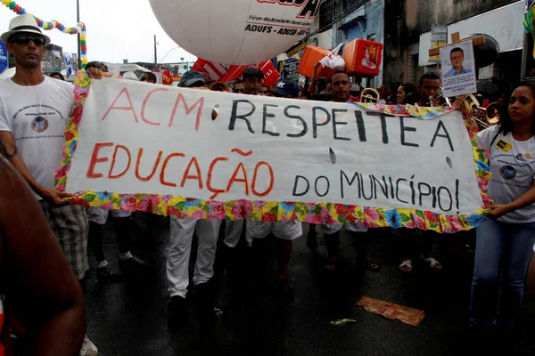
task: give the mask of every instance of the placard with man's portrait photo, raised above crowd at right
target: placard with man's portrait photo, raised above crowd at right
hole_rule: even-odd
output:
[[[461,42],[440,48],[444,96],[477,92],[473,42]]]

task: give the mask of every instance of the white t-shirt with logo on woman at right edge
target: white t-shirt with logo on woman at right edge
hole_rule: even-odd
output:
[[[494,204],[509,204],[530,190],[535,180],[535,137],[520,142],[513,134],[498,134],[491,126],[477,134],[481,147],[490,150],[489,195]],[[497,136],[498,134],[498,136]],[[496,137],[496,139],[494,139]],[[494,142],[492,140],[494,139]],[[490,146],[492,145],[492,146]],[[535,205],[515,210],[498,219],[503,223],[534,223]]]

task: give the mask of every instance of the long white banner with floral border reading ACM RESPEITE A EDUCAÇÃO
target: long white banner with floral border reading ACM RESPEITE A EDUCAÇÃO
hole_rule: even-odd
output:
[[[490,205],[488,155],[459,112],[83,73],[55,175],[74,204],[441,232],[473,228]]]

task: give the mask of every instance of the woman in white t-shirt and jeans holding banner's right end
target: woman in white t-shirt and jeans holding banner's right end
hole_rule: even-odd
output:
[[[489,218],[476,229],[470,305],[474,330],[493,326],[512,331],[523,303],[535,243],[534,135],[535,87],[530,85],[514,90],[500,125],[478,134],[478,142],[490,150],[489,195],[494,205]]]

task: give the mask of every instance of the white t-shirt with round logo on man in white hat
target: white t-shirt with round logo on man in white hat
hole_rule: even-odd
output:
[[[45,77],[40,85],[0,80],[0,131],[11,131],[19,157],[43,187],[53,188],[62,162],[63,133],[72,112],[74,86]]]

